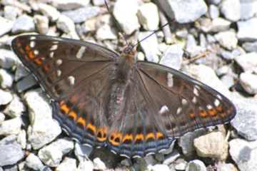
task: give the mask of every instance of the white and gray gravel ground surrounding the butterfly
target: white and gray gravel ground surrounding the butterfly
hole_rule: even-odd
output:
[[[257,170],[257,1],[108,4],[111,13],[104,0],[0,1],[0,171]],[[121,51],[121,31],[133,35],[129,41],[156,31],[138,43],[138,60],[161,63],[206,83],[234,103],[236,117],[226,125],[186,133],[168,150],[140,159],[71,140],[52,118],[46,93],[11,51],[11,40],[40,33]]]

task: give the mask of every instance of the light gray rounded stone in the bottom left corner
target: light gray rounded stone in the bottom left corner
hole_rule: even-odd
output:
[[[14,165],[24,157],[24,151],[17,143],[0,145],[0,166]]]

